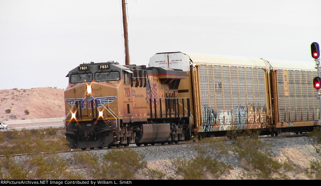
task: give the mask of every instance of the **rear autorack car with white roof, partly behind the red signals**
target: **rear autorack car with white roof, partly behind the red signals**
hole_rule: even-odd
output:
[[[277,83],[274,86],[277,94],[273,97],[278,103],[278,109],[274,109],[277,128],[317,125],[319,100],[312,83],[317,76],[314,64],[286,60],[268,62],[273,67],[273,82]]]

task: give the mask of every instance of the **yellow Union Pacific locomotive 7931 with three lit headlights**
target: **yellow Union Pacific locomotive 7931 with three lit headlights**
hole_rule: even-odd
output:
[[[181,70],[81,64],[66,76],[66,138],[71,148],[177,143],[190,136]]]

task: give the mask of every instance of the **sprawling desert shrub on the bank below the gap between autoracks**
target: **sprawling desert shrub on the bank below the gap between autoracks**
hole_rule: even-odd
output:
[[[242,168],[249,171],[242,179],[287,179],[285,172],[292,170],[288,163],[274,160],[269,144],[257,138],[239,137],[235,139],[233,152],[241,159]]]

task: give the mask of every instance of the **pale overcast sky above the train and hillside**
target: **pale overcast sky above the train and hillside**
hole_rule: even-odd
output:
[[[158,52],[315,63],[320,0],[127,0],[130,64]],[[0,89],[68,85],[82,63],[125,65],[121,0],[0,0]]]

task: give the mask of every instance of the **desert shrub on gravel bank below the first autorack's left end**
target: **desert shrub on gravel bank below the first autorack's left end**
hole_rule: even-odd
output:
[[[221,156],[228,155],[228,146],[215,138],[200,140],[194,146],[197,154],[192,159],[177,158],[171,161],[177,170],[176,174],[185,180],[217,179],[228,174],[232,167],[218,161]]]

